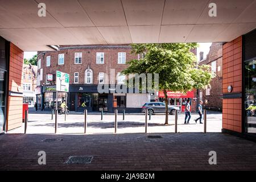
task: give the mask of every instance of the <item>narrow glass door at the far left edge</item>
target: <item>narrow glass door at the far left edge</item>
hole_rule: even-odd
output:
[[[0,133],[4,131],[5,124],[5,75],[5,71],[3,71],[3,69],[0,69]]]

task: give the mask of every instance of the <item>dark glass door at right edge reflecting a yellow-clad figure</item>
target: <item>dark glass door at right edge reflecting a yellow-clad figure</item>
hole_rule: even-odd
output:
[[[246,132],[256,133],[256,59],[245,62]]]

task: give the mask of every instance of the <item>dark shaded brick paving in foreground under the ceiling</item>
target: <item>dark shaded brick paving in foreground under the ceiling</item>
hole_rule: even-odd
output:
[[[58,140],[42,142],[47,138]],[[46,165],[38,164],[39,151]],[[208,163],[209,151],[216,151],[216,165]],[[64,164],[71,155],[93,156],[92,163]],[[256,144],[221,133],[5,134],[0,156],[1,170],[256,170]]]

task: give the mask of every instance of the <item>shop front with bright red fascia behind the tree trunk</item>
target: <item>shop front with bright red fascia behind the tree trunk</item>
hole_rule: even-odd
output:
[[[159,91],[159,101],[164,102],[164,93],[163,91]],[[189,91],[187,93],[181,93],[181,92],[171,92],[167,91],[167,97],[168,97],[168,105],[180,107],[180,111],[185,111],[185,104],[187,103],[187,99],[190,99],[190,109],[191,111],[196,111],[196,99],[194,98],[194,92]]]

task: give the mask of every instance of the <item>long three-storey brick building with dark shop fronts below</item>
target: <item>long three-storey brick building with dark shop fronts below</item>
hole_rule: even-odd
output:
[[[40,109],[51,109],[56,102],[56,86],[47,75],[55,77],[56,71],[68,73],[68,107],[71,111],[114,111],[114,109],[141,112],[144,102],[154,100],[150,94],[117,93],[125,76],[121,71],[127,62],[140,56],[131,53],[131,46],[61,46],[59,51],[38,52],[38,81],[42,92],[36,102]],[[50,76],[52,76],[50,75]],[[113,77],[113,79],[112,79]],[[99,93],[98,84],[109,84],[108,93]],[[121,86],[122,88],[122,86]],[[58,102],[65,100],[58,93]],[[86,107],[83,107],[85,104]]]

